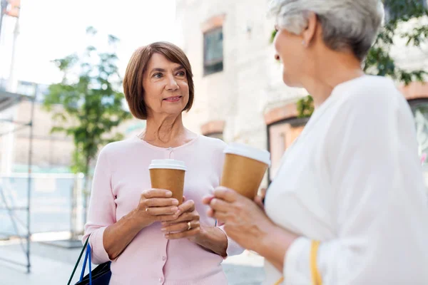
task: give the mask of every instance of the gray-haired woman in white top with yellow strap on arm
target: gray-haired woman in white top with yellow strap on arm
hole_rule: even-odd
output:
[[[274,0],[275,58],[315,113],[265,204],[219,187],[208,214],[266,259],[265,284],[428,284],[428,207],[412,113],[362,61],[379,0]],[[275,283],[276,281],[276,283]]]

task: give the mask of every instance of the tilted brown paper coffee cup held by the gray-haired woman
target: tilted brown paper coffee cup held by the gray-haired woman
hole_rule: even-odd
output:
[[[231,144],[224,152],[220,185],[254,199],[270,166],[270,152],[238,143]]]

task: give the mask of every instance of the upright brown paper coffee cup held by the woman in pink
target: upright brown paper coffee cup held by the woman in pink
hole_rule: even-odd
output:
[[[183,203],[184,175],[186,167],[180,160],[152,160],[150,170],[151,187],[173,192],[173,198]]]

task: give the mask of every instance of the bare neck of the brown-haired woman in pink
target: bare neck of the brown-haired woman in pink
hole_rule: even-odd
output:
[[[175,147],[182,144],[186,133],[181,114],[178,116],[149,116],[143,140],[159,147]]]

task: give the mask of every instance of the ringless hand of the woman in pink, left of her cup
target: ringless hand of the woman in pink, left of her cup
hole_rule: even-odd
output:
[[[168,222],[178,218],[178,200],[173,193],[163,189],[149,189],[141,194],[134,217],[143,227],[154,222]]]

